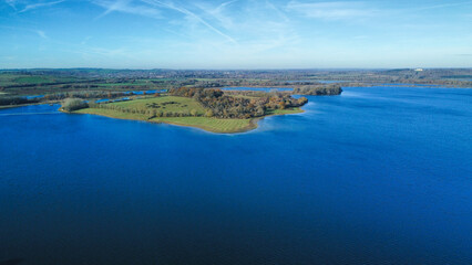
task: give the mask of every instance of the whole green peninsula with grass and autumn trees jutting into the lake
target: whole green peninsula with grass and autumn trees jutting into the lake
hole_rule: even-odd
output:
[[[298,92],[312,95],[314,88]],[[308,99],[293,93],[179,87],[100,103],[66,98],[61,110],[233,134],[257,128],[257,120],[267,116],[302,113]]]

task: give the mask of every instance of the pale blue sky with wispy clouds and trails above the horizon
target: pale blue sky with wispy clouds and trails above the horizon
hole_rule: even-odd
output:
[[[472,1],[0,0],[0,68],[472,67]]]

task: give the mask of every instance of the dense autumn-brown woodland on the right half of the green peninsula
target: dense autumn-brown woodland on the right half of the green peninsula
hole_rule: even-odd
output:
[[[305,105],[308,99],[296,99],[289,94],[269,93],[265,96],[247,98],[224,95],[220,89],[181,87],[170,91],[173,96],[193,97],[208,109],[206,116],[217,118],[260,117],[270,109],[285,109]]]

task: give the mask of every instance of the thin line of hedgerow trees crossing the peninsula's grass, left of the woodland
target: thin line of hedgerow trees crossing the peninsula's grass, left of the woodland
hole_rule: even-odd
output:
[[[131,108],[131,107],[121,107],[114,104],[96,104],[90,103],[91,108],[102,108],[102,109],[112,109],[125,114],[142,114],[148,116],[148,118],[155,117],[202,117],[203,114],[199,114],[196,109],[184,110],[184,112],[165,112],[158,110],[155,108]]]

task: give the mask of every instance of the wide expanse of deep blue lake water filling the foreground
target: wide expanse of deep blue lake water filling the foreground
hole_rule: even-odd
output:
[[[0,264],[472,264],[472,89],[309,100],[239,135],[0,110]]]

